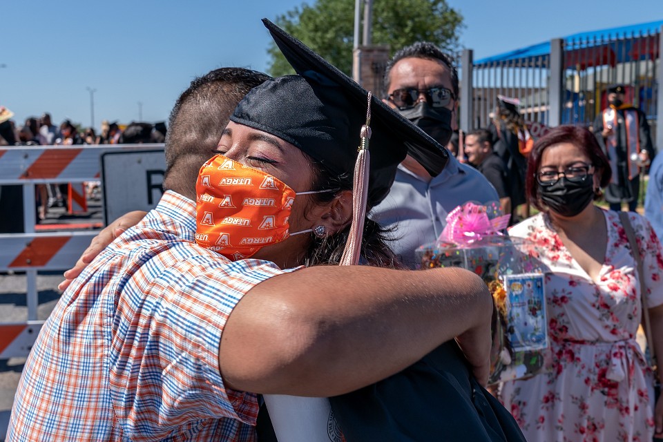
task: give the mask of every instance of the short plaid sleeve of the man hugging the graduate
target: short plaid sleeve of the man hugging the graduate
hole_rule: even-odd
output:
[[[131,342],[124,343],[130,351],[121,354],[111,370],[116,414],[130,427],[148,422],[174,427],[182,421],[221,418],[255,425],[256,394],[224,385],[219,345],[229,315],[244,294],[286,271],[271,262],[220,261],[204,254],[170,265],[158,257],[152,261],[141,272],[154,276],[138,278],[146,282],[132,290],[141,305],[126,309],[140,312],[124,321],[135,329]]]

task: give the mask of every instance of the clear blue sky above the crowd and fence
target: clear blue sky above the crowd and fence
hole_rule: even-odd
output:
[[[347,0],[354,3],[354,0]],[[380,1],[380,0],[374,0]],[[262,17],[298,0],[6,0],[0,8],[0,105],[17,124],[44,111],[95,127],[167,119],[191,79],[213,68],[267,69]],[[312,3],[312,1],[309,1]],[[474,59],[575,32],[663,19],[662,0],[448,0]],[[499,6],[498,6],[499,5]],[[142,105],[139,105],[139,102]]]

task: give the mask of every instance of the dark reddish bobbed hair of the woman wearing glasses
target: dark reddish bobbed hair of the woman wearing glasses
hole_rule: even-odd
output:
[[[564,125],[557,126],[546,135],[535,142],[527,162],[526,194],[530,204],[540,211],[546,211],[546,206],[539,198],[539,183],[536,174],[541,166],[541,157],[546,148],[555,144],[570,143],[579,148],[582,153],[589,157],[594,166],[595,173],[601,177],[600,186],[605,187],[610,182],[612,171],[608,157],[603,153],[594,134],[582,126]],[[600,193],[597,193],[599,198]],[[595,198],[595,199],[597,199]]]

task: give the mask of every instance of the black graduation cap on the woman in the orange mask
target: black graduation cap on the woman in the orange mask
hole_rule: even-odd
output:
[[[276,135],[336,175],[352,180],[366,122],[367,90],[271,21],[262,22],[298,75],[253,88],[231,120]],[[448,153],[376,97],[372,97],[371,113],[368,201],[374,205],[389,193],[396,166],[406,154],[435,176],[448,161]]]

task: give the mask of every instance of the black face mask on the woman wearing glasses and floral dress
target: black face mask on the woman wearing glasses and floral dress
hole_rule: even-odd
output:
[[[552,186],[539,183],[541,201],[550,210],[562,216],[575,216],[582,212],[594,199],[593,175],[589,174],[580,182],[573,182],[561,177]]]

